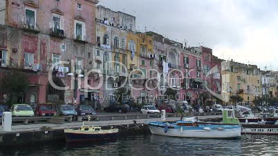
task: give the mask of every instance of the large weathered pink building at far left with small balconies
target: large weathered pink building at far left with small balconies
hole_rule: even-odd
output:
[[[0,72],[20,69],[30,81],[24,95],[26,103],[73,103],[73,88],[57,90],[50,85],[53,77],[57,86],[73,86],[68,73],[77,76],[90,68],[95,46],[95,4],[97,0],[60,1],[0,1]],[[73,61],[71,61],[73,60]],[[68,61],[67,65],[53,65]],[[76,69],[76,70],[74,70]],[[73,75],[75,77],[75,75]],[[91,79],[91,78],[89,78]],[[81,80],[84,84],[84,80]],[[77,85],[77,104],[88,92]],[[6,92],[1,92],[0,99]]]

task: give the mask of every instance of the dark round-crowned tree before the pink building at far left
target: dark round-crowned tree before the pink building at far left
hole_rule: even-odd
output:
[[[19,101],[19,94],[24,95],[28,90],[28,78],[26,75],[18,72],[17,70],[12,70],[6,73],[0,79],[0,88],[4,94],[8,95],[8,101],[6,104],[11,106]]]

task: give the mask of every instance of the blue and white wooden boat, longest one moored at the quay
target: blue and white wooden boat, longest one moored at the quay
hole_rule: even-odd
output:
[[[193,118],[176,121],[176,123],[150,121],[147,124],[151,134],[154,135],[214,139],[241,137],[241,126],[239,125],[198,124],[198,121]]]

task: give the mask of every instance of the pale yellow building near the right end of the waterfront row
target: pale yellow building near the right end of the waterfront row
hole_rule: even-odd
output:
[[[261,97],[261,71],[257,66],[223,61],[221,70],[223,101],[228,102],[236,95],[241,96],[243,102]]]

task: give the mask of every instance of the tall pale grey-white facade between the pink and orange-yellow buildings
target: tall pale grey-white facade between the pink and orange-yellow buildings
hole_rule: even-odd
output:
[[[97,55],[100,57],[98,68],[102,69],[104,84],[100,89],[105,98],[104,104],[113,104],[114,91],[117,88],[128,89],[127,77],[129,43],[127,34],[135,30],[135,17],[123,12],[114,12],[104,6],[96,11]],[[127,28],[129,26],[129,28]]]

